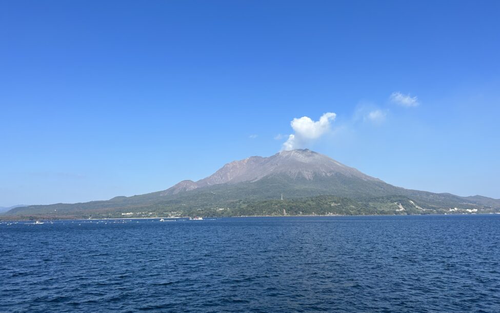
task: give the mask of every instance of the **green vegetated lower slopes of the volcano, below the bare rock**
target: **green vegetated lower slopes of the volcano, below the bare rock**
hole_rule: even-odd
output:
[[[281,200],[283,193],[284,200]],[[456,208],[456,209],[455,209]],[[153,192],[108,201],[19,207],[3,219],[153,218],[352,214],[490,213],[500,201],[409,190],[334,175],[314,180],[272,175],[177,194]]]

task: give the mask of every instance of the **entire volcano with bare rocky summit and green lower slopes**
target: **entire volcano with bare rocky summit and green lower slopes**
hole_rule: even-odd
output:
[[[283,200],[282,200],[283,195]],[[224,165],[166,190],[76,204],[11,209],[18,218],[500,212],[500,200],[396,187],[326,155],[297,149]]]

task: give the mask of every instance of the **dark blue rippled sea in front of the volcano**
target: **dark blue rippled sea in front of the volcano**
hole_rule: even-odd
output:
[[[0,224],[2,312],[500,312],[500,216]]]

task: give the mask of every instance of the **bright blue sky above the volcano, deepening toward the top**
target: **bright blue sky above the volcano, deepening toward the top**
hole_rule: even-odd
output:
[[[500,198],[499,12],[2,1],[0,206],[163,190],[290,146],[397,186]]]

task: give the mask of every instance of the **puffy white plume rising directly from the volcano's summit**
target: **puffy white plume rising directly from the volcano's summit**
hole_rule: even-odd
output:
[[[335,116],[335,113],[328,112],[323,114],[318,121],[313,121],[308,116],[293,119],[290,125],[295,133],[288,136],[288,140],[283,144],[283,149],[293,150],[305,147],[318,139],[330,130],[331,122],[335,120]]]

